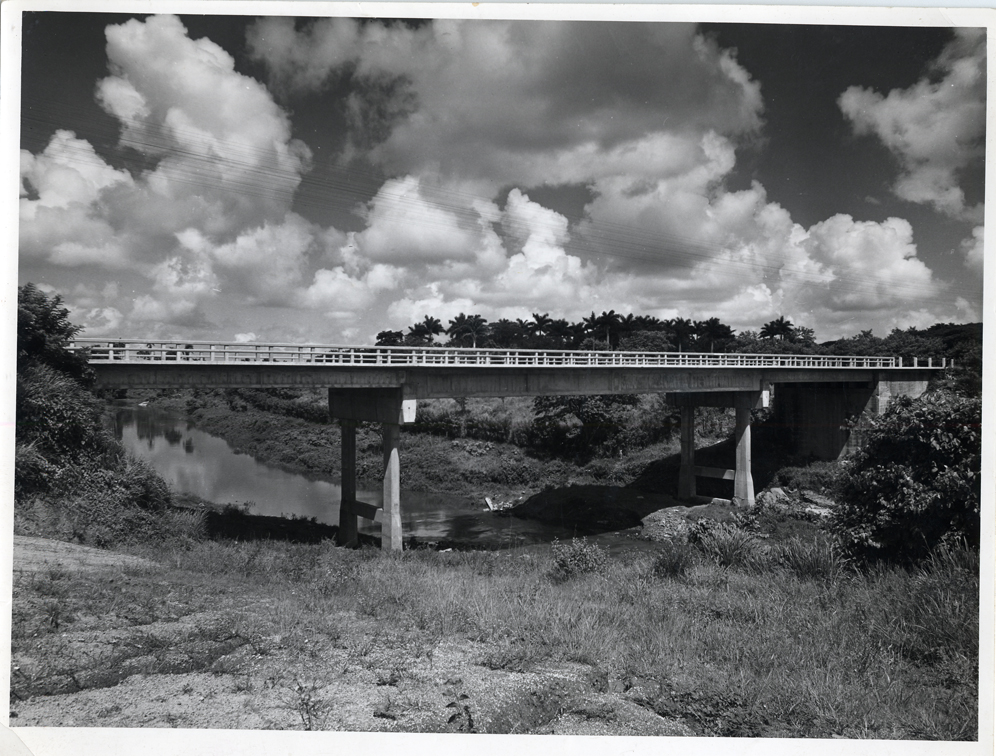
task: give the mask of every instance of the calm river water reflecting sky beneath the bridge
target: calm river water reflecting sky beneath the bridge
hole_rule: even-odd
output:
[[[253,514],[314,517],[339,522],[340,488],[260,464],[236,454],[220,438],[186,420],[151,407],[122,406],[112,414],[115,435],[125,448],[145,460],[180,493],[194,494],[217,504],[249,504]],[[329,432],[334,432],[332,429]],[[402,453],[401,464],[404,464]],[[360,491],[357,498],[381,503],[379,491]],[[401,492],[405,535],[420,540],[456,540],[481,546],[519,546],[569,539],[562,528],[514,517],[496,517],[483,502],[452,494]],[[360,529],[379,533],[380,526],[360,518]],[[596,540],[612,547],[619,536]],[[631,539],[625,539],[632,544]]]

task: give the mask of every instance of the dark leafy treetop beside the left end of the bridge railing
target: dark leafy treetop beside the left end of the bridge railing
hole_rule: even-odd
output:
[[[87,354],[69,351],[69,344],[82,331],[69,322],[69,310],[58,294],[49,297],[33,283],[17,290],[17,369],[48,365],[83,385],[93,383]]]

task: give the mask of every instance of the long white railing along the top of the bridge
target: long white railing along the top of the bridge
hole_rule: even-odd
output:
[[[216,341],[76,339],[100,364],[280,363],[328,366],[461,367],[708,367],[708,368],[896,368],[902,358],[861,355],[727,354],[712,352],[587,352],[555,349],[465,349],[452,347],[371,347],[323,344],[259,344]],[[915,360],[914,367],[947,362]],[[909,365],[907,365],[908,367]]]

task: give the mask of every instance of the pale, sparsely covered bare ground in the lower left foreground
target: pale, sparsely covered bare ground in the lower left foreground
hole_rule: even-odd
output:
[[[41,538],[14,546],[19,727],[692,734],[649,705],[660,691],[583,664],[517,669],[483,643],[332,605],[301,615],[296,596],[250,584],[218,590],[197,573]]]

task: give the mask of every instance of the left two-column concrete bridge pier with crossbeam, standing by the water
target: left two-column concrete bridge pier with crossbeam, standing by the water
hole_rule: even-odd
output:
[[[340,546],[357,541],[357,516],[379,522],[381,549],[401,551],[401,425],[415,420],[415,400],[402,388],[329,389],[329,415],[342,424],[342,496],[339,502]],[[384,446],[383,504],[356,500],[356,423],[379,422]]]

